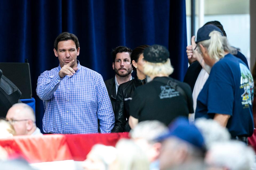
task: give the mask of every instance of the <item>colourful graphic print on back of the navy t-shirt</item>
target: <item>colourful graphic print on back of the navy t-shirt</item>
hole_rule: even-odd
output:
[[[242,97],[242,105],[243,108],[248,108],[249,104],[252,105],[253,99],[253,77],[250,73],[250,70],[242,63],[239,63],[240,71],[241,71],[241,79],[240,79],[240,89],[243,88],[245,91]]]

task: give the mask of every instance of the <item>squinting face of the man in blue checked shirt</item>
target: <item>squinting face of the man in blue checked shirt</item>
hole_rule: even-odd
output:
[[[58,50],[56,51],[54,49],[54,54],[56,57],[59,58],[59,64],[61,67],[66,65],[72,60],[75,60],[71,68],[74,68],[77,66],[77,56],[79,56],[80,47],[78,49],[75,46],[75,42],[73,40],[67,40],[67,41],[59,41],[58,43]]]

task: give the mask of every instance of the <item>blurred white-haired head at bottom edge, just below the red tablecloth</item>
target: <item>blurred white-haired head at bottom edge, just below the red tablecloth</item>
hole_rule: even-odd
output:
[[[113,146],[94,145],[83,162],[85,170],[107,170],[116,159],[117,150]]]

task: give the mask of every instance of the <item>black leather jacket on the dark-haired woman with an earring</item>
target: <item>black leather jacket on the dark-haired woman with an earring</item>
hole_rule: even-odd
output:
[[[115,126],[111,132],[124,132],[131,130],[128,124],[130,116],[130,102],[135,89],[145,83],[146,79],[139,80],[138,78],[134,78],[126,83],[120,84],[117,90],[117,98],[115,102]]]

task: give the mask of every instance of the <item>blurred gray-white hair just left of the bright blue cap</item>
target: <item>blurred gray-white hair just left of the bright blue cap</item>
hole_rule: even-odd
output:
[[[167,132],[167,126],[162,122],[157,120],[147,120],[139,122],[138,125],[130,131],[130,137],[132,139],[141,138],[148,142],[153,142],[159,135]]]

